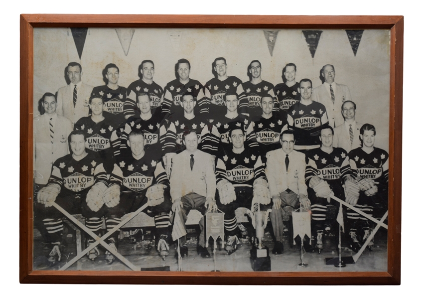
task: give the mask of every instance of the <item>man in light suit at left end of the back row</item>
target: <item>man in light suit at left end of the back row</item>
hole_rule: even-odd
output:
[[[75,124],[80,118],[88,116],[88,100],[93,87],[82,83],[82,67],[79,63],[70,62],[66,71],[70,84],[57,91],[57,114]]]

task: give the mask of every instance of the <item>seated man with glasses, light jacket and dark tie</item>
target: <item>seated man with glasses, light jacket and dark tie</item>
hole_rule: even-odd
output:
[[[266,154],[266,176],[269,181],[269,191],[273,206],[270,219],[275,234],[274,254],[282,254],[283,215],[282,207],[302,206],[309,210],[310,201],[307,198],[305,184],[305,154],[294,150],[293,131],[286,130],[281,136],[282,149],[271,150]],[[261,209],[266,209],[263,207]]]

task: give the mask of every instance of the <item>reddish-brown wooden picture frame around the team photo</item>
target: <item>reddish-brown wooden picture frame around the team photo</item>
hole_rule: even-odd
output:
[[[32,214],[35,27],[389,29],[389,228],[387,272],[92,272],[34,271]],[[21,283],[398,285],[401,282],[403,16],[71,15],[20,16],[20,270]]]

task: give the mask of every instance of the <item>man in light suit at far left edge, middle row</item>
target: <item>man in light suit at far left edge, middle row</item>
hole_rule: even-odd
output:
[[[52,93],[45,93],[39,102],[41,115],[34,118],[34,178],[41,188],[47,184],[53,162],[69,153],[72,123],[57,115],[56,98]]]

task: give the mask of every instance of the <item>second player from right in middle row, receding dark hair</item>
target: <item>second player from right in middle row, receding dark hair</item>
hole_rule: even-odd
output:
[[[288,128],[286,112],[273,112],[274,101],[271,95],[263,96],[260,103],[262,115],[253,119],[256,140],[264,156],[268,151],[281,148],[281,134]]]

